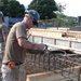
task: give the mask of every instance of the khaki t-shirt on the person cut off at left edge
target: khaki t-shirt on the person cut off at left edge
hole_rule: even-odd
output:
[[[0,24],[0,43],[4,42],[2,33],[8,33],[8,27],[4,23]]]

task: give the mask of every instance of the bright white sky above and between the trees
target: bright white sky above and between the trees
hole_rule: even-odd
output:
[[[27,6],[32,0],[17,0],[19,3]],[[55,0],[56,3],[66,4],[64,14],[67,16],[81,16],[81,0]]]

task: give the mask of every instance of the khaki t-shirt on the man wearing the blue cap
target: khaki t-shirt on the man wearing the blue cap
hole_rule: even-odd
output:
[[[26,27],[22,23],[15,24],[9,32],[2,63],[10,60],[23,63],[26,50],[18,45],[17,39],[19,37],[27,38]]]

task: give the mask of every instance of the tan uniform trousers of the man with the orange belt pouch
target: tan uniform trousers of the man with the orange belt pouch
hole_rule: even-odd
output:
[[[11,69],[8,65],[2,64],[1,72],[2,81],[26,81],[26,70],[23,64],[16,66],[15,69]]]

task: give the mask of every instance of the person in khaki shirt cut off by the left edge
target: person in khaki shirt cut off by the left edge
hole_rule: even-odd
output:
[[[8,27],[3,23],[3,13],[0,11],[0,59],[1,60],[2,60],[2,57],[3,57],[6,36],[8,36]]]

